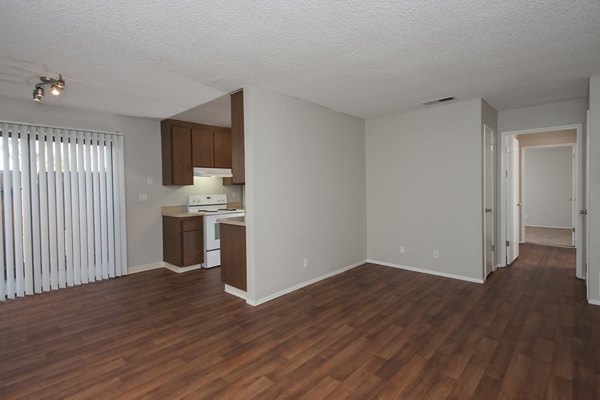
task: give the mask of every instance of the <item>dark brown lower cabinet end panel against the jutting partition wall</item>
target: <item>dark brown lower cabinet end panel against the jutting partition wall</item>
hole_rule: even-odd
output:
[[[221,224],[221,282],[246,290],[246,227]]]

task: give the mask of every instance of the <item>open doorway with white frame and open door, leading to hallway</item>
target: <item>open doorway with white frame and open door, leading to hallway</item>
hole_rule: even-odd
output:
[[[584,222],[582,215],[578,212],[582,208],[582,198],[585,197],[584,169],[581,168],[582,164],[579,162],[580,155],[585,156],[582,135],[581,125],[511,131],[500,134],[502,151],[499,157],[500,173],[497,175],[500,191],[498,243],[502,244],[499,246],[498,255],[500,266],[510,265],[517,259],[521,243],[549,240],[551,243],[541,244],[554,245],[553,240],[561,240],[561,243],[566,244],[565,247],[574,246],[577,249],[576,275],[578,278],[584,277],[584,246],[582,245],[584,235],[580,229]],[[552,160],[554,156],[561,160],[560,173],[564,179],[561,179],[560,188],[554,188],[556,189],[554,193],[542,191],[541,196],[536,198],[535,195],[532,196],[532,190],[536,190],[536,185],[527,188],[527,181],[533,180],[534,183],[537,183],[538,189],[540,187],[543,189],[543,184],[548,186],[548,182],[554,185],[555,182],[552,179],[557,179],[556,171],[544,170],[543,167],[544,165],[553,165],[549,160]],[[529,172],[537,168],[537,172],[541,171],[542,173],[539,179],[545,179],[545,182],[535,182],[535,173],[528,174],[528,159]],[[557,159],[555,158],[555,160]],[[550,169],[556,170],[556,167],[557,165],[554,165]],[[560,197],[560,201],[554,201],[558,197]],[[536,203],[541,206],[535,207]],[[553,208],[554,203],[560,207]],[[557,209],[561,210],[560,215],[555,215]],[[558,216],[560,216],[560,220],[553,219]]]

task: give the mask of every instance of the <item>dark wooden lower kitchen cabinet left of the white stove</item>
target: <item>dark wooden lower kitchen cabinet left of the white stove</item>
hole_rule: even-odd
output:
[[[203,216],[163,216],[163,261],[178,267],[204,262]]]

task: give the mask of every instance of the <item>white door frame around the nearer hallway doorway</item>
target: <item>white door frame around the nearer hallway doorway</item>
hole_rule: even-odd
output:
[[[583,152],[583,140],[582,140],[582,124],[570,124],[570,125],[558,125],[558,126],[547,126],[544,128],[534,128],[534,129],[520,129],[520,130],[514,130],[514,131],[504,131],[504,132],[500,132],[500,148],[505,151],[506,149],[506,145],[507,145],[507,138],[509,136],[514,136],[514,135],[524,135],[524,134],[529,134],[529,133],[543,133],[543,132],[551,132],[551,131],[561,131],[561,130],[567,130],[567,129],[575,129],[577,131],[577,143],[575,146],[575,170],[576,170],[576,184],[577,184],[577,190],[576,190],[576,197],[575,197],[575,209],[576,210],[580,210],[581,209],[581,205],[582,205],[582,193],[583,193],[583,169],[581,168],[580,165],[580,160],[581,160],[581,154]],[[504,171],[504,169],[506,168],[505,162],[504,162],[504,157],[499,157],[499,162],[500,162],[500,166],[497,170],[497,190],[498,193],[500,195],[500,201],[499,201],[499,207],[498,207],[498,212],[499,212],[499,221],[506,221],[506,192],[503,189],[503,186],[505,185],[505,180],[503,178],[504,174],[502,173],[502,171]],[[506,246],[499,246],[499,244],[501,243],[505,243],[506,242],[506,223],[500,223],[498,224],[500,227],[500,235],[498,237],[498,240],[496,241],[496,246],[499,249],[499,266],[500,267],[506,267]],[[581,231],[581,217],[579,216],[578,218],[575,219],[575,235],[576,235],[576,251],[577,251],[577,262],[576,262],[576,269],[575,269],[575,274],[578,278],[580,279],[584,279],[585,277],[583,276],[583,256],[582,256],[582,239],[583,239],[583,234]]]

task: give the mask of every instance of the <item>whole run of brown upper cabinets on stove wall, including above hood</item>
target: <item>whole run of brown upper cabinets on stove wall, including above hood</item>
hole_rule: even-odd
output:
[[[232,167],[231,129],[161,121],[163,185],[193,185],[194,167]]]

